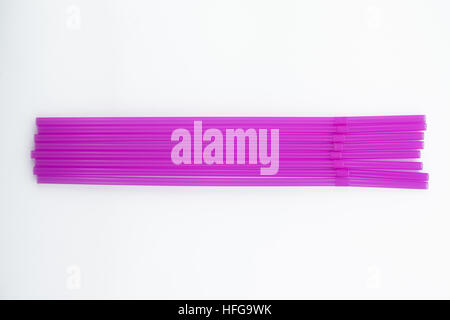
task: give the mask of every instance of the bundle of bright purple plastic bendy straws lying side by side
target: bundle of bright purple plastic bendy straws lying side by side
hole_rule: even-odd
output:
[[[426,189],[425,116],[37,118],[38,183]]]

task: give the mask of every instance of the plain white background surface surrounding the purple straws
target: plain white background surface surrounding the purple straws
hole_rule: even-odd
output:
[[[450,298],[450,2],[0,0],[1,298]],[[36,116],[426,114],[430,188],[38,185]]]

